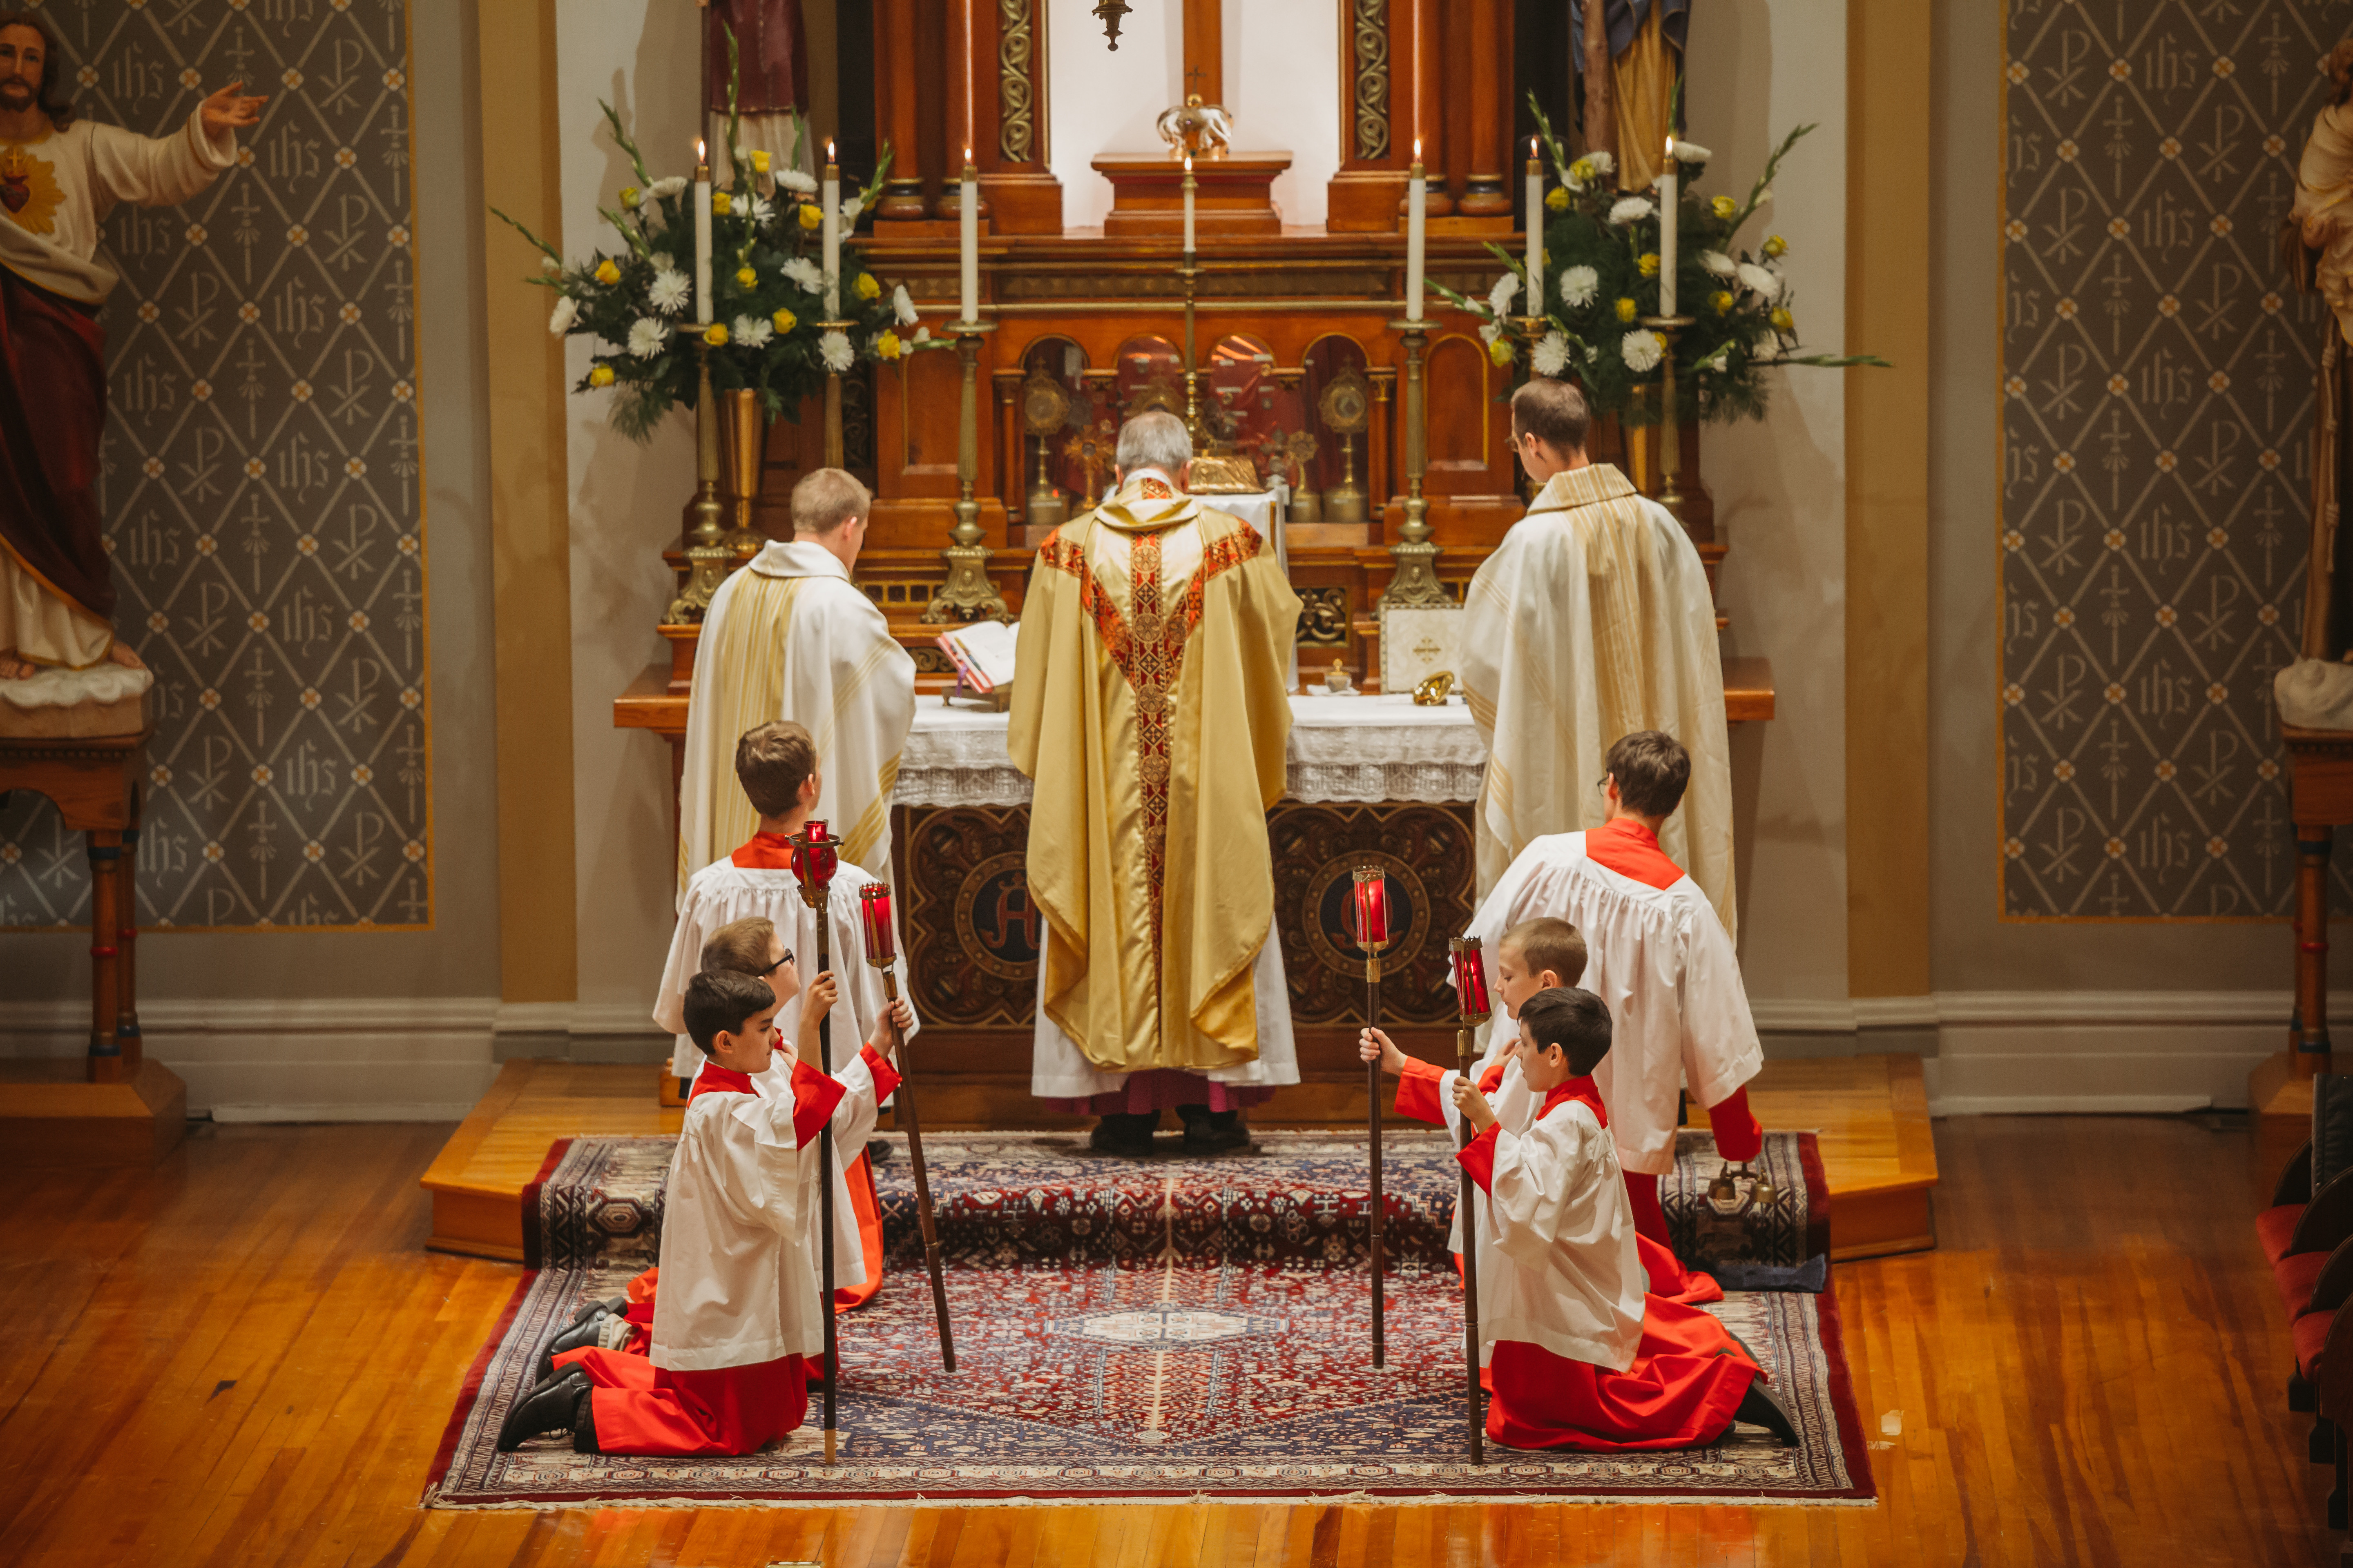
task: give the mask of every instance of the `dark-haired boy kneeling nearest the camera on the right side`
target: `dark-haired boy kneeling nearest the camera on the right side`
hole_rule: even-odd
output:
[[[1487,1436],[1513,1448],[1697,1448],[1746,1420],[1795,1443],[1795,1422],[1741,1342],[1701,1307],[1645,1293],[1591,1077],[1609,1053],[1609,1009],[1593,992],[1551,987],[1520,1006],[1520,1030],[1513,1067],[1539,1100],[1520,1131],[1461,1074],[1402,1056],[1379,1030],[1362,1034],[1365,1058],[1400,1074],[1400,1114],[1442,1124],[1452,1110],[1478,1128],[1457,1159],[1485,1194]]]

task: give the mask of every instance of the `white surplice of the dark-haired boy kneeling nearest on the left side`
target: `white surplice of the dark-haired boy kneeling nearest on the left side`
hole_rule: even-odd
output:
[[[791,1058],[779,1053],[769,1074],[788,1081]],[[852,1053],[833,1077],[847,1091],[833,1110],[833,1133],[856,1150],[875,1124],[873,1072]],[[816,1279],[824,1140],[795,1147],[793,1110],[791,1086],[701,1093],[687,1103],[664,1199],[661,1291],[647,1352],[654,1366],[713,1371],[824,1352]],[[847,1206],[835,1190],[835,1215]],[[866,1276],[856,1220],[847,1251],[835,1227],[833,1265],[838,1286]]]

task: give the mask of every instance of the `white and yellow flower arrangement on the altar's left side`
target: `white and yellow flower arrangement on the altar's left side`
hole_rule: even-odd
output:
[[[694,407],[696,348],[708,350],[715,390],[751,388],[772,418],[798,418],[802,397],[821,393],[828,371],[934,346],[929,329],[915,327],[906,287],[885,289],[849,244],[840,249],[838,317],[849,327],[819,329],[826,320],[826,275],[819,266],[826,216],[816,181],[800,169],[772,172],[767,153],[744,153],[734,115],[727,118],[727,141],[736,179],[711,193],[711,324],[699,327],[689,183],[675,174],[652,179],[621,118],[609,103],[600,108],[638,181],[624,186],[612,207],[598,207],[621,235],[619,252],[567,263],[529,228],[496,207],[492,212],[546,254],[544,275],[529,282],[555,294],[548,331],[598,341],[574,390],[609,388],[612,423],[621,435],[642,442],[664,414]],[[805,122],[795,134],[805,134]],[[889,148],[873,181],[842,197],[845,235],[873,207],[887,172]]]

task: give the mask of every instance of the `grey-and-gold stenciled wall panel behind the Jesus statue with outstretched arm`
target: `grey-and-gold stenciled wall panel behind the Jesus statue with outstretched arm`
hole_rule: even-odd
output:
[[[405,0],[49,0],[78,110],[238,167],[122,207],[101,451],[118,628],[155,670],[141,917],[433,919]],[[0,809],[0,926],[87,919],[78,835]]]

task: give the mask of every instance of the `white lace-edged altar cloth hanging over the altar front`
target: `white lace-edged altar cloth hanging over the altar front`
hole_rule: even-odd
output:
[[[899,755],[901,806],[1026,806],[1031,783],[1005,750],[1007,715],[915,698]],[[1285,799],[1478,799],[1487,745],[1471,710],[1417,708],[1412,693],[1294,696]]]

